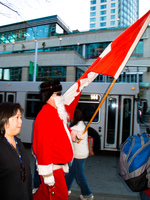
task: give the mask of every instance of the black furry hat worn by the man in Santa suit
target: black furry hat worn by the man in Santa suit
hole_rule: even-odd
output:
[[[58,79],[54,79],[52,81],[45,81],[41,83],[40,88],[40,99],[42,102],[46,103],[46,101],[52,96],[54,92],[62,90],[62,85]]]

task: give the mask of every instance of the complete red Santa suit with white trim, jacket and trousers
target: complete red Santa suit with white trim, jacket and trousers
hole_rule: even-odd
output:
[[[50,104],[45,104],[38,113],[34,123],[33,151],[37,158],[37,169],[41,175],[42,184],[34,199],[47,198],[47,185],[42,177],[53,174],[55,186],[52,200],[67,200],[68,191],[64,172],[67,172],[67,163],[73,159],[73,148],[70,129],[60,119],[57,109]],[[50,188],[50,187],[49,187]],[[42,192],[40,192],[42,191]],[[50,192],[51,194],[51,192]],[[40,195],[45,195],[45,198]]]

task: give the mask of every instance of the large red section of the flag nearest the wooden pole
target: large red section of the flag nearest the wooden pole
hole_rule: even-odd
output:
[[[100,55],[100,57],[97,58],[97,60],[90,66],[90,68],[86,71],[86,73],[83,74],[83,76],[81,76],[80,79],[85,78],[86,74],[88,74],[89,72],[96,72],[99,74],[104,74],[114,77],[118,69],[121,67],[122,63],[125,61],[125,58],[129,53],[129,51],[131,50],[131,47],[134,42],[135,42],[134,48],[136,47],[141,36],[146,30],[149,22],[150,22],[150,10],[143,17],[138,19],[133,25],[127,28],[119,37],[117,37],[111,43],[110,51],[107,53],[108,48],[106,48],[107,49],[105,50],[106,55],[104,54],[104,56],[102,57],[103,55],[102,53],[102,55]],[[139,35],[141,30],[142,32]],[[134,48],[130,52],[129,57],[131,56]],[[128,59],[126,60],[126,63],[127,61]],[[126,63],[123,64],[122,70]]]

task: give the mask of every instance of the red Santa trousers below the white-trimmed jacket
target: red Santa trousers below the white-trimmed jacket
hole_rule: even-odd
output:
[[[49,200],[50,197],[50,200],[68,199],[68,189],[63,170],[55,170],[53,174],[55,177],[55,186],[47,187],[47,185],[45,185],[43,182],[43,178],[41,177],[41,184],[37,192],[34,194],[33,200]],[[52,192],[54,192],[54,195],[52,195]]]

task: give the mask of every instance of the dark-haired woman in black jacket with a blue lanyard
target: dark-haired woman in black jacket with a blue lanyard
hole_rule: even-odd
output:
[[[0,199],[31,200],[30,160],[17,135],[22,125],[19,103],[0,104]]]

